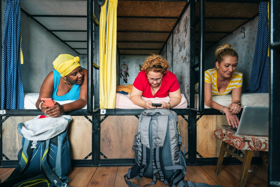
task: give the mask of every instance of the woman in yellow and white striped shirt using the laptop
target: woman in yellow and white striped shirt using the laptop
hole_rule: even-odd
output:
[[[216,68],[204,73],[204,101],[210,108],[225,113],[228,124],[237,127],[237,115],[241,110],[240,95],[242,73],[235,71],[238,55],[230,44],[219,46],[215,52]],[[212,100],[214,95],[227,95],[232,91],[232,103],[229,107],[220,105]]]

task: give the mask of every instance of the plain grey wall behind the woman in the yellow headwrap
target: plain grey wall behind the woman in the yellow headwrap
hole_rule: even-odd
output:
[[[24,92],[39,92],[46,76],[54,70],[53,61],[60,54],[78,54],[46,31],[38,23],[21,13],[22,53],[21,66]],[[87,68],[80,56],[81,65]]]

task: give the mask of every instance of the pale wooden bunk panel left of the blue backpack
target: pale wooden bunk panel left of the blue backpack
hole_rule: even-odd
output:
[[[22,148],[22,136],[17,131],[17,124],[22,122],[22,116],[10,116],[2,123],[2,153],[10,160],[17,160],[17,153]]]

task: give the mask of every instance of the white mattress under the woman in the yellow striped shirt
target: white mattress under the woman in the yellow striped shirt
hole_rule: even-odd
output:
[[[231,94],[226,96],[213,96],[212,100],[220,105],[229,107],[232,103]],[[269,106],[269,93],[241,93],[241,108],[244,106]],[[195,94],[195,108],[198,108],[198,94]],[[209,108],[204,105],[204,108]]]

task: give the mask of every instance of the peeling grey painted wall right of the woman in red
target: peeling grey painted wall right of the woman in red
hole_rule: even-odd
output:
[[[164,54],[164,53],[162,53]],[[172,35],[167,42],[167,61],[172,66]],[[170,68],[172,70],[172,67]],[[189,102],[190,94],[190,6],[173,31],[173,73],[181,93]]]

